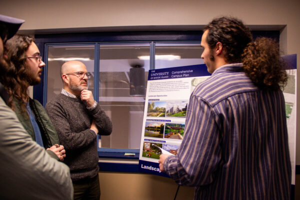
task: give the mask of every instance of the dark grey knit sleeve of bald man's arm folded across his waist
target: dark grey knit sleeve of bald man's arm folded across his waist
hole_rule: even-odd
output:
[[[97,137],[91,129],[85,129],[81,132],[72,132],[67,113],[58,102],[48,102],[45,106],[45,110],[57,131],[60,143],[65,149],[76,150],[85,147],[92,143]]]

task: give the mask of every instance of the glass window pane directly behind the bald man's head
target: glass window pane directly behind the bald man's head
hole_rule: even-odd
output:
[[[87,80],[88,89],[93,91],[94,77],[94,45],[64,45],[48,47],[47,64],[47,101],[61,92],[62,80],[60,77],[60,66],[69,60],[79,60],[91,73]]]

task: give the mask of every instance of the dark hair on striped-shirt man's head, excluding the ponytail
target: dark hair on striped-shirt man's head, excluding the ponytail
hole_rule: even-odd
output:
[[[214,18],[204,27],[205,30],[208,30],[206,40],[209,48],[213,49],[217,42],[221,42],[228,63],[241,62],[244,47],[252,41],[250,29],[234,17]]]

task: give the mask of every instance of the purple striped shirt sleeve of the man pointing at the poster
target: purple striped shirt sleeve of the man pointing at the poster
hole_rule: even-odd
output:
[[[192,96],[178,154],[168,156],[163,167],[178,184],[200,186],[213,181],[221,157],[219,130],[210,106]]]

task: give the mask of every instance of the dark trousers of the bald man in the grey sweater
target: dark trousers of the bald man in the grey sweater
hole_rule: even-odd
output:
[[[74,200],[100,199],[99,174],[93,178],[73,181]]]

